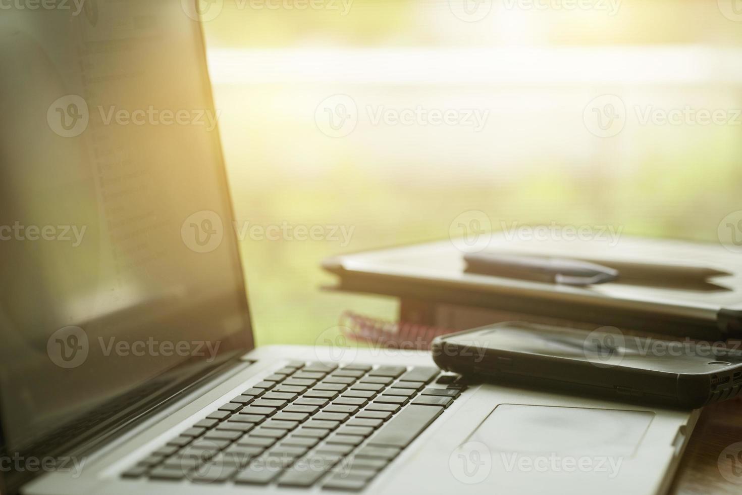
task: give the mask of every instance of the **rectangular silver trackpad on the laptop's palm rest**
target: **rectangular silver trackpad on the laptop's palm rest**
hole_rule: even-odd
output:
[[[513,455],[630,458],[653,417],[650,411],[500,404],[467,441],[482,442],[503,460]]]

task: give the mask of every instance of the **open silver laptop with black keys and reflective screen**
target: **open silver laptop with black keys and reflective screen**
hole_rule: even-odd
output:
[[[666,491],[697,412],[256,348],[195,4],[63,4],[0,19],[7,493]]]

